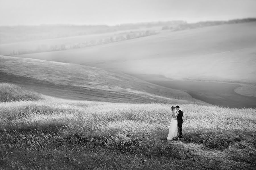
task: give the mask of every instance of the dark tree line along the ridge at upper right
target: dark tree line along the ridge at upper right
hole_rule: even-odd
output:
[[[255,22],[256,18],[245,18],[245,19],[235,19],[235,20],[228,20],[228,21],[203,21],[203,22],[196,22],[196,23],[183,23],[176,26],[163,26],[162,30],[186,30],[186,29],[193,29],[193,28],[201,28],[206,26],[214,26],[214,25],[222,25],[222,24],[235,24],[235,23],[242,23],[242,22]]]

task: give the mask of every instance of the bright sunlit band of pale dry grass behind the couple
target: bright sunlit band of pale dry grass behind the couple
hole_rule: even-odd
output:
[[[176,103],[173,103],[175,105]],[[99,132],[117,128],[119,131],[141,131],[142,127],[166,128],[170,121],[168,104],[125,104],[93,101],[69,101],[46,99],[40,101],[13,101],[0,104],[1,122],[4,128],[69,125],[88,123]],[[200,128],[253,131],[256,128],[255,109],[221,108],[195,104],[182,105],[184,110],[184,131]],[[19,114],[27,115],[18,117]],[[13,119],[9,119],[13,117]],[[160,119],[161,118],[161,119]],[[67,120],[67,121],[63,121]],[[51,123],[50,123],[51,122]],[[136,125],[136,126],[135,126]],[[139,127],[138,127],[139,126]],[[187,129],[186,129],[187,128]],[[128,130],[129,129],[129,130]]]

